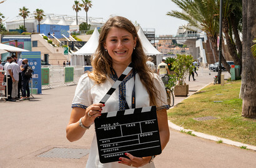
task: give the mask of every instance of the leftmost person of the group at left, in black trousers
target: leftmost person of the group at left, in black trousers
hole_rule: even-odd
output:
[[[11,64],[11,60],[12,60],[12,57],[8,56],[6,58],[6,64],[4,64],[4,70],[6,71],[5,77],[4,77],[4,82],[6,82],[6,79],[7,79],[7,88],[8,88],[8,90],[5,89],[5,94],[7,96],[6,101],[16,101],[16,100],[13,100],[12,96],[11,96],[11,93],[12,93],[12,78],[11,78],[11,75],[8,71],[9,65]]]

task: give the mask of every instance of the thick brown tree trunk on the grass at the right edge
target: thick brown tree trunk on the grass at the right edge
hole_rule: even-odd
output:
[[[243,93],[242,116],[256,117],[256,59],[253,57],[250,47],[252,40],[256,38],[256,0],[243,0]]]

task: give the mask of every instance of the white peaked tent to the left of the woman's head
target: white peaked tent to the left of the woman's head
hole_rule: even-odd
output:
[[[81,49],[77,50],[72,54],[72,65],[84,65],[84,57],[91,56],[96,52],[96,49],[99,44],[99,31],[97,28],[94,29],[92,36],[87,41],[87,43],[82,46]]]

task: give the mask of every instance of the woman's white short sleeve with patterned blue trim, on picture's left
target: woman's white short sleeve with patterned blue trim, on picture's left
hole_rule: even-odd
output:
[[[77,83],[75,95],[72,101],[72,108],[79,107],[86,109],[92,105],[91,79],[87,73],[82,75]]]

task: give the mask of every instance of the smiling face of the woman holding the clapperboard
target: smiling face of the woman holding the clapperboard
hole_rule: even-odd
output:
[[[113,63],[128,65],[132,61],[132,52],[136,46],[136,38],[125,29],[112,27],[107,34],[104,48],[112,58]]]

